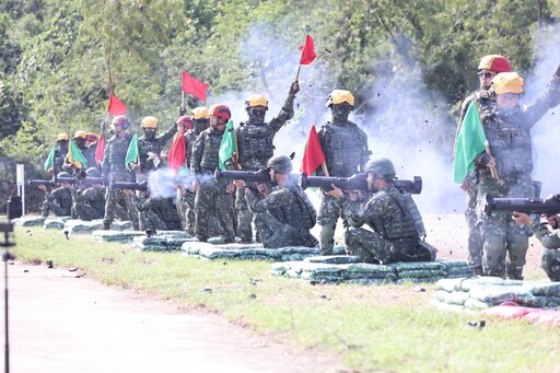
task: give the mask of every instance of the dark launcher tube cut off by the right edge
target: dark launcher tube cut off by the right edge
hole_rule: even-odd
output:
[[[493,198],[486,195],[485,212],[517,211],[524,213],[545,213],[552,215],[560,212],[560,195],[542,198]]]

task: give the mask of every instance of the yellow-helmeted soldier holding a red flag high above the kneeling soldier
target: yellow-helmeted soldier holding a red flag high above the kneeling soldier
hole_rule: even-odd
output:
[[[237,129],[238,165],[244,171],[258,171],[266,167],[268,159],[275,153],[273,139],[282,126],[293,115],[293,101],[300,91],[298,81],[293,82],[288,92],[284,105],[276,118],[265,123],[268,110],[268,100],[261,94],[250,95],[245,102],[248,120],[240,124]],[[225,162],[229,170],[237,170],[233,160]],[[253,242],[252,221],[253,213],[247,208],[244,197],[245,188],[238,188],[235,196],[237,210],[237,232],[243,243]]]

